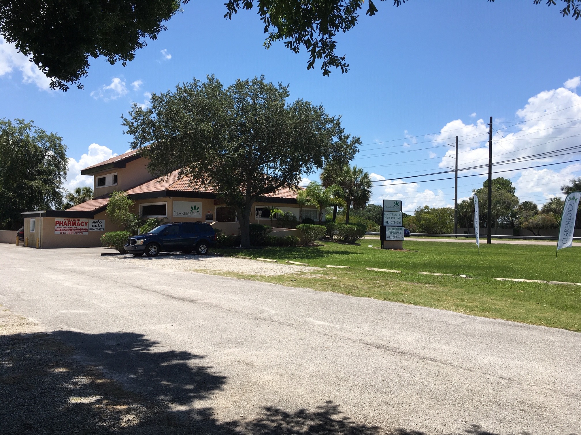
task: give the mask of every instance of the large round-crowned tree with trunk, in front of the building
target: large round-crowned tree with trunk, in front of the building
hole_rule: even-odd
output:
[[[150,159],[149,171],[211,188],[238,211],[248,246],[252,204],[278,189],[293,188],[302,174],[328,161],[348,162],[358,151],[340,118],[304,100],[287,103],[288,86],[264,77],[223,86],[213,76],[153,94],[123,118],[132,148]]]

